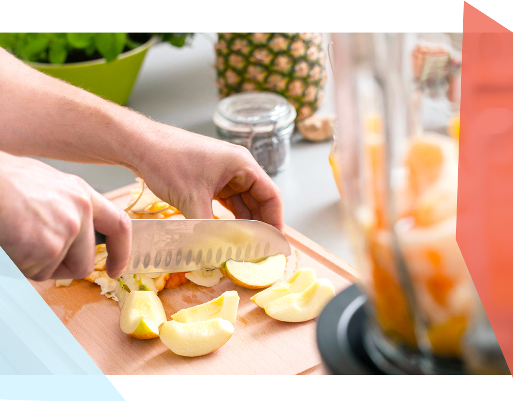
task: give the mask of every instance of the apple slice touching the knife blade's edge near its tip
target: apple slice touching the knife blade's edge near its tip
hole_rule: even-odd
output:
[[[221,273],[241,287],[259,289],[277,282],[283,276],[286,265],[287,259],[283,254],[271,255],[259,262],[228,259]]]

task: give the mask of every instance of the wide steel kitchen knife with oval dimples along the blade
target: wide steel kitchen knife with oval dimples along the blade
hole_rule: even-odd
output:
[[[96,244],[105,236],[94,232]],[[291,254],[285,236],[257,220],[132,220],[125,274],[219,269],[228,259],[259,260]]]

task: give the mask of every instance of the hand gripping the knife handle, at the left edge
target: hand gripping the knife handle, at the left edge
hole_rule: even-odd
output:
[[[94,229],[106,235],[107,274],[128,262],[128,215],[84,180],[35,159],[0,152],[0,246],[33,280],[84,278],[94,270]]]

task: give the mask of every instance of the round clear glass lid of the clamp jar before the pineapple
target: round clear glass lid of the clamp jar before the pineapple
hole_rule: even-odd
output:
[[[296,117],[294,107],[278,93],[251,91],[224,98],[214,114],[219,128],[254,133],[289,126]]]

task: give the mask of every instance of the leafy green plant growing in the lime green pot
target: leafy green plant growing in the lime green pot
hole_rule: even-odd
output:
[[[0,47],[19,59],[64,64],[105,58],[107,62],[153,36],[184,46],[194,32],[0,32]]]

